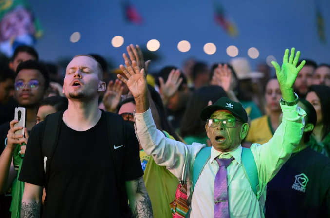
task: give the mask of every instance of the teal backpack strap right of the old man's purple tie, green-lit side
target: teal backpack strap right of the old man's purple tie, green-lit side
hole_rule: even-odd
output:
[[[254,194],[259,200],[262,193],[259,186],[258,169],[251,149],[242,147],[241,160],[245,175],[250,182]]]

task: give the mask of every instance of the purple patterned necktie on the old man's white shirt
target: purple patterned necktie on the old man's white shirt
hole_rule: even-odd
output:
[[[227,189],[227,166],[232,162],[230,159],[217,158],[219,171],[214,181],[214,218],[229,218],[228,189]]]

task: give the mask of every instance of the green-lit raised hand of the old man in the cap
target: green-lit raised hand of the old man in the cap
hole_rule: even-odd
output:
[[[275,67],[276,76],[278,83],[280,84],[280,88],[282,91],[283,99],[286,101],[294,101],[293,96],[293,84],[298,76],[299,71],[304,67],[305,61],[303,60],[301,64],[297,66],[300,57],[300,51],[297,52],[294,57],[295,49],[291,49],[291,54],[288,61],[289,49],[286,49],[283,57],[282,68],[278,63],[272,61],[272,65]],[[291,94],[292,92],[292,94]],[[286,98],[288,99],[286,99]]]

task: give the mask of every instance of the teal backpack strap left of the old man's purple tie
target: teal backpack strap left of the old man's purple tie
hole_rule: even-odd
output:
[[[211,147],[203,147],[197,154],[193,167],[193,190],[206,163],[210,160]]]

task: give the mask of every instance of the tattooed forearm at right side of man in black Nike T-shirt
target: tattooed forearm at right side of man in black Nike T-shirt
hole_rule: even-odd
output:
[[[135,181],[136,193],[141,195],[141,198],[136,201],[133,208],[133,218],[153,218],[153,209],[146,187],[143,183],[143,178]]]

